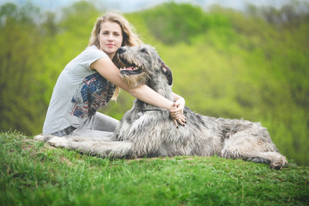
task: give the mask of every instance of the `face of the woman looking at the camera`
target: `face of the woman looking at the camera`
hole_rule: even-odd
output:
[[[101,24],[98,39],[100,42],[98,48],[113,59],[117,49],[122,46],[122,28],[118,23],[106,21]]]

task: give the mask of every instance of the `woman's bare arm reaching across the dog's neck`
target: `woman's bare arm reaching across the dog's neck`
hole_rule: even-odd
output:
[[[106,80],[112,82],[113,84],[117,85],[121,89],[124,89],[125,91],[130,93],[130,95],[133,95],[133,97],[143,102],[152,104],[154,106],[159,106],[161,108],[167,108],[170,111],[177,109],[177,106],[176,104],[174,104],[174,102],[168,100],[167,98],[164,98],[162,95],[160,95],[159,93],[157,93],[156,91],[154,91],[153,89],[151,89],[145,84],[135,89],[131,89],[130,87],[128,87],[126,84],[124,84],[124,82],[122,81],[122,78],[120,78],[120,75],[119,75],[120,70],[113,64],[113,62],[109,58],[100,58],[96,60],[90,65],[90,69],[95,69],[104,78],[106,78]],[[181,117],[179,115],[179,111],[177,111],[176,115],[172,117],[174,119],[174,124],[176,126],[177,126],[176,120],[178,122],[182,121],[180,119]]]

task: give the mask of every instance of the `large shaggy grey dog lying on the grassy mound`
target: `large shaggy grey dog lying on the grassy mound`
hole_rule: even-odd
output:
[[[120,69],[126,84],[132,88],[147,84],[174,101],[172,71],[153,47],[120,47],[117,55],[126,65],[125,69]],[[36,139],[47,141],[52,146],[112,158],[217,154],[227,159],[269,163],[275,169],[282,169],[288,163],[260,123],[207,117],[187,107],[184,115],[187,124],[176,128],[167,109],[135,100],[133,108],[124,114],[110,137],[38,135]]]

